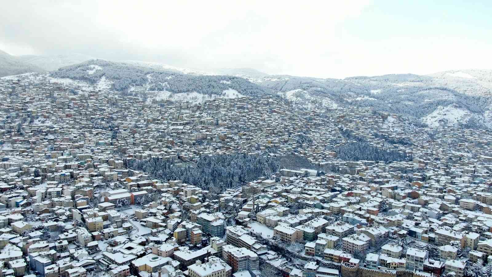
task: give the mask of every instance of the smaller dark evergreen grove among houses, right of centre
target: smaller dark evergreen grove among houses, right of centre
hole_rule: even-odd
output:
[[[372,146],[367,142],[349,142],[336,147],[337,157],[344,161],[395,162],[408,161],[412,157],[397,150],[386,150]]]

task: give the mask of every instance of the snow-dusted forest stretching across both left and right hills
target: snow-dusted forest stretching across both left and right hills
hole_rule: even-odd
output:
[[[416,122],[420,122],[421,118],[439,107],[456,106],[470,114],[464,122],[460,122],[462,127],[492,128],[491,122],[484,117],[492,105],[488,87],[480,82],[456,81],[429,75],[391,74],[345,79],[266,75],[245,79],[230,75],[184,74],[172,69],[104,60],[89,60],[50,74],[52,77],[70,78],[91,84],[105,77],[113,82],[113,89],[123,95],[128,94],[133,87],[145,88],[146,91],[199,92],[205,95],[221,95],[224,90],[232,89],[251,97],[278,93],[285,97],[285,93],[298,90],[302,92],[302,99],[295,101],[299,107],[324,109],[327,102],[335,105],[369,106],[374,110],[409,116]]]

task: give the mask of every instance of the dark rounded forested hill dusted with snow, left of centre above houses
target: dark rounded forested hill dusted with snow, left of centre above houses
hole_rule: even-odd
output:
[[[178,70],[164,70],[137,66],[132,63],[116,63],[105,60],[89,60],[51,72],[55,78],[69,78],[95,84],[105,78],[112,88],[124,92],[134,88],[171,93],[199,92],[205,95],[221,95],[235,90],[245,96],[270,94],[268,88],[244,78],[229,75],[194,75]]]

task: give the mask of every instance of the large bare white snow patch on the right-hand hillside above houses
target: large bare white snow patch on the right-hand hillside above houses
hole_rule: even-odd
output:
[[[439,106],[431,114],[422,118],[422,122],[429,127],[438,127],[439,125],[455,125],[458,122],[464,122],[470,117],[470,112],[453,106]]]

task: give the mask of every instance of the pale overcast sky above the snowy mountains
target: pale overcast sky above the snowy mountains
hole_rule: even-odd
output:
[[[492,66],[492,1],[5,1],[0,50],[344,78]]]

